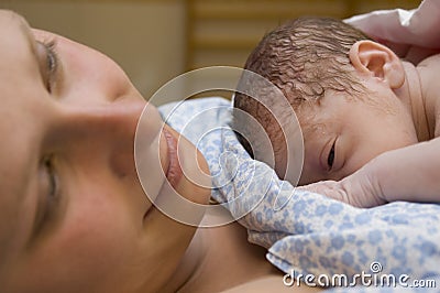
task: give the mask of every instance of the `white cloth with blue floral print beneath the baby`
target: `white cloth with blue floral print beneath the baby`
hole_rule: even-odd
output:
[[[297,191],[245,152],[229,128],[230,101],[187,100],[160,110],[164,120],[206,156],[215,186],[212,197],[226,203],[248,228],[251,242],[268,249],[267,260],[287,279],[311,275],[315,282],[318,278],[324,282],[343,274],[348,283],[339,291],[360,290],[350,283],[359,283],[355,275],[362,273],[376,279],[394,275],[400,289],[417,289],[418,280],[433,280],[440,286],[439,205],[396,202],[362,209]],[[398,278],[405,283],[398,283]],[[395,287],[388,285],[387,290]]]

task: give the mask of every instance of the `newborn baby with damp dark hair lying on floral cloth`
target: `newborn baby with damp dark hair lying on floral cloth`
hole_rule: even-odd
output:
[[[439,202],[439,55],[415,66],[340,20],[300,18],[264,36],[245,69],[277,86],[297,115],[305,144],[301,188],[359,207]],[[266,102],[271,95],[260,98]],[[276,108],[276,100],[267,102]],[[233,105],[262,124],[275,171],[286,178],[290,138],[283,129],[294,118],[276,117],[240,93]],[[233,128],[246,151],[265,161],[268,150],[258,146],[254,128],[239,116]]]

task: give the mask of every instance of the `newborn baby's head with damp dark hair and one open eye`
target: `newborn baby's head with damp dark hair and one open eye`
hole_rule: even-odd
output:
[[[387,70],[388,67],[392,70]],[[305,141],[300,184],[339,180],[378,153],[409,143],[408,138],[388,142],[384,137],[380,138],[378,149],[370,148],[369,151],[352,156],[350,162],[349,159],[342,160],[344,154],[359,150],[358,144],[362,140],[355,138],[355,132],[364,132],[365,142],[374,143],[377,138],[372,139],[375,133],[367,133],[369,123],[373,121],[374,124],[377,115],[385,111],[382,100],[376,102],[372,97],[391,96],[405,78],[400,61],[389,48],[370,41],[363,32],[341,20],[299,18],[289,21],[263,37],[249,56],[244,68],[278,87],[295,110]],[[371,85],[376,83],[370,80],[371,77],[386,79],[387,83],[384,86]],[[246,87],[249,85],[239,84],[241,91]],[[258,98],[273,107],[273,113],[256,99],[240,93],[235,93],[233,106],[254,117],[265,129],[273,144],[275,171],[283,178],[288,164],[286,141],[290,138],[285,139],[282,129],[295,118],[283,115],[283,110],[277,112],[279,96],[277,99],[272,97],[264,95]],[[392,111],[400,111],[394,108]],[[365,117],[359,119],[359,115]],[[389,123],[394,127],[396,121],[382,122],[386,124],[374,126],[376,132],[391,126]],[[351,134],[343,137],[342,132],[346,134],[346,127],[350,126],[353,126]],[[255,139],[252,126],[243,124],[234,116],[233,127],[242,134],[238,137],[246,151],[254,159],[262,160],[261,154],[265,150],[258,150],[258,140]],[[349,138],[350,143],[346,142]]]

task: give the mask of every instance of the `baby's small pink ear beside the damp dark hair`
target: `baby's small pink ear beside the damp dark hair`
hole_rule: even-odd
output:
[[[358,41],[350,50],[354,68],[399,88],[405,82],[405,72],[397,55],[388,47],[369,40]]]

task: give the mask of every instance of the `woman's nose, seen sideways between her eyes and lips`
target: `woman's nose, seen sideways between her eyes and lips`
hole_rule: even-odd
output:
[[[161,118],[157,110],[144,100],[121,99],[114,102],[82,106],[67,110],[64,116],[66,140],[75,144],[73,155],[88,164],[103,163],[118,176],[135,174],[134,139],[143,110],[142,140],[151,144],[160,135]]]

